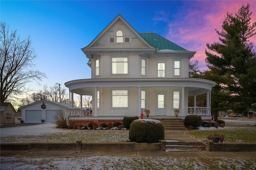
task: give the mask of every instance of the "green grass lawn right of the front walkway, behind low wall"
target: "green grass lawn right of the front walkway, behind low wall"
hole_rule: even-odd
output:
[[[206,139],[212,133],[219,133],[224,135],[224,142],[236,142],[236,140],[242,140],[244,143],[256,142],[256,126],[229,125],[228,127],[227,129],[219,127],[216,130],[185,131],[185,133],[199,140]]]

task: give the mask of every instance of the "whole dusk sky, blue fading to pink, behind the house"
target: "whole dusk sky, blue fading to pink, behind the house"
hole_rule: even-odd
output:
[[[88,59],[81,51],[118,14],[136,31],[155,32],[189,51],[197,51],[206,69],[206,43],[218,41],[227,12],[250,4],[256,21],[256,1],[0,1],[0,20],[17,29],[20,38],[29,35],[38,54],[36,68],[48,76],[34,90],[70,80],[91,78]],[[250,41],[256,45],[255,36]],[[254,48],[255,49],[255,48]]]

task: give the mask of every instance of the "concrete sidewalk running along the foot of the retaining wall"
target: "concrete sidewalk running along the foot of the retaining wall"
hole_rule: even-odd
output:
[[[45,157],[78,157],[78,156],[137,156],[137,157],[209,157],[209,158],[256,158],[256,152],[120,152],[120,151],[98,151],[98,152],[72,152],[72,151],[35,151],[35,150],[1,150],[0,156],[16,156],[26,158]]]

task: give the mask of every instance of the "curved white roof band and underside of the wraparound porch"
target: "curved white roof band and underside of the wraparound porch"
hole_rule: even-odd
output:
[[[211,91],[215,84],[200,78],[113,78],[72,80],[65,86],[80,95],[92,95],[96,87],[188,87],[188,95],[195,96]]]

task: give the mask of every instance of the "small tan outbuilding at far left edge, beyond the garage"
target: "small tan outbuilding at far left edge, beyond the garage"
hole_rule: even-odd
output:
[[[11,103],[0,103],[0,124],[14,124],[16,110]]]

